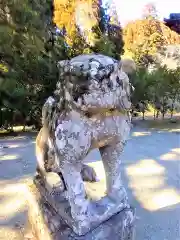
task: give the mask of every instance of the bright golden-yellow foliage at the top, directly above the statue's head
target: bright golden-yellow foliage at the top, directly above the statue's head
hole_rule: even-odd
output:
[[[87,29],[96,24],[99,0],[54,0],[54,23],[65,28],[66,41],[72,45],[78,24]]]

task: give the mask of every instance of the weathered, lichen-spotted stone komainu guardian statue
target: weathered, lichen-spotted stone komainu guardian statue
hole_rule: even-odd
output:
[[[38,171],[41,177],[47,172],[61,175],[71,215],[69,220],[65,214],[65,221],[82,235],[128,206],[120,155],[131,124],[132,86],[126,73],[135,64],[90,54],[60,61],[58,67],[57,88],[42,111]],[[86,198],[83,185],[83,180],[96,181],[94,170],[83,164],[94,148],[101,153],[107,184],[107,196],[98,204]]]

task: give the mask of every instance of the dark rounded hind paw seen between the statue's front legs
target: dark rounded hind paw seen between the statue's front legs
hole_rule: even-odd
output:
[[[98,178],[96,175],[96,172],[94,169],[86,164],[83,164],[82,170],[81,170],[81,176],[83,181],[86,182],[97,182]]]

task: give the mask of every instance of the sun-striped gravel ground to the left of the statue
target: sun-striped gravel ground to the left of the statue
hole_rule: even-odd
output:
[[[0,239],[20,240],[27,216],[27,185],[35,171],[34,140],[0,140]],[[4,148],[5,147],[5,148]]]

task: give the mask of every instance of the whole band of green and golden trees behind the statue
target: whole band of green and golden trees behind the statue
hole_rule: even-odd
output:
[[[180,101],[180,35],[157,19],[151,5],[142,20],[122,30],[112,5],[104,7],[102,0],[1,1],[0,127],[12,125],[16,113],[39,127],[42,104],[56,85],[57,61],[91,52],[117,60],[123,52],[133,57],[142,65],[133,76],[133,104],[165,109],[171,100],[173,112]],[[160,63],[149,72],[154,56]]]

